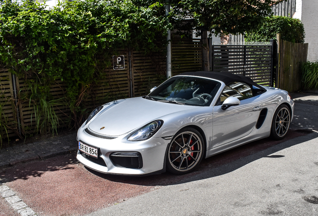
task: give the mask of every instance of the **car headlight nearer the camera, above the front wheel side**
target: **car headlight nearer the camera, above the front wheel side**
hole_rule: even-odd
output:
[[[162,120],[155,120],[151,123],[144,125],[143,127],[139,128],[135,132],[133,132],[129,137],[129,141],[140,141],[150,138],[158,129],[161,127],[163,121]]]

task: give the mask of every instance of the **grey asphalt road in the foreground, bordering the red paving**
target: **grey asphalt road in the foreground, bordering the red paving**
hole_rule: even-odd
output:
[[[87,216],[318,215],[317,155],[311,133]]]

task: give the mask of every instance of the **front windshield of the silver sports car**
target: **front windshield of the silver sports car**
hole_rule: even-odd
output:
[[[185,105],[209,106],[221,86],[211,79],[174,76],[148,94],[147,99]]]

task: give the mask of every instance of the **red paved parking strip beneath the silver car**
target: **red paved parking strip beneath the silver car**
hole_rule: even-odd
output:
[[[282,141],[300,135],[303,133],[289,131]],[[95,173],[79,164],[75,152],[72,152],[0,170],[0,178],[6,178],[5,184],[40,215],[82,215],[148,192],[155,186],[176,183],[282,141],[266,138],[245,144],[204,159],[195,172],[181,176],[162,173],[129,177]],[[0,216],[2,214],[17,215],[3,198],[0,200]]]

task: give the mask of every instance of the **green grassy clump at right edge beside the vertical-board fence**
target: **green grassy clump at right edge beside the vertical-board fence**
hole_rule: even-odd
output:
[[[318,89],[318,61],[304,62],[301,65],[301,83],[303,89]]]

